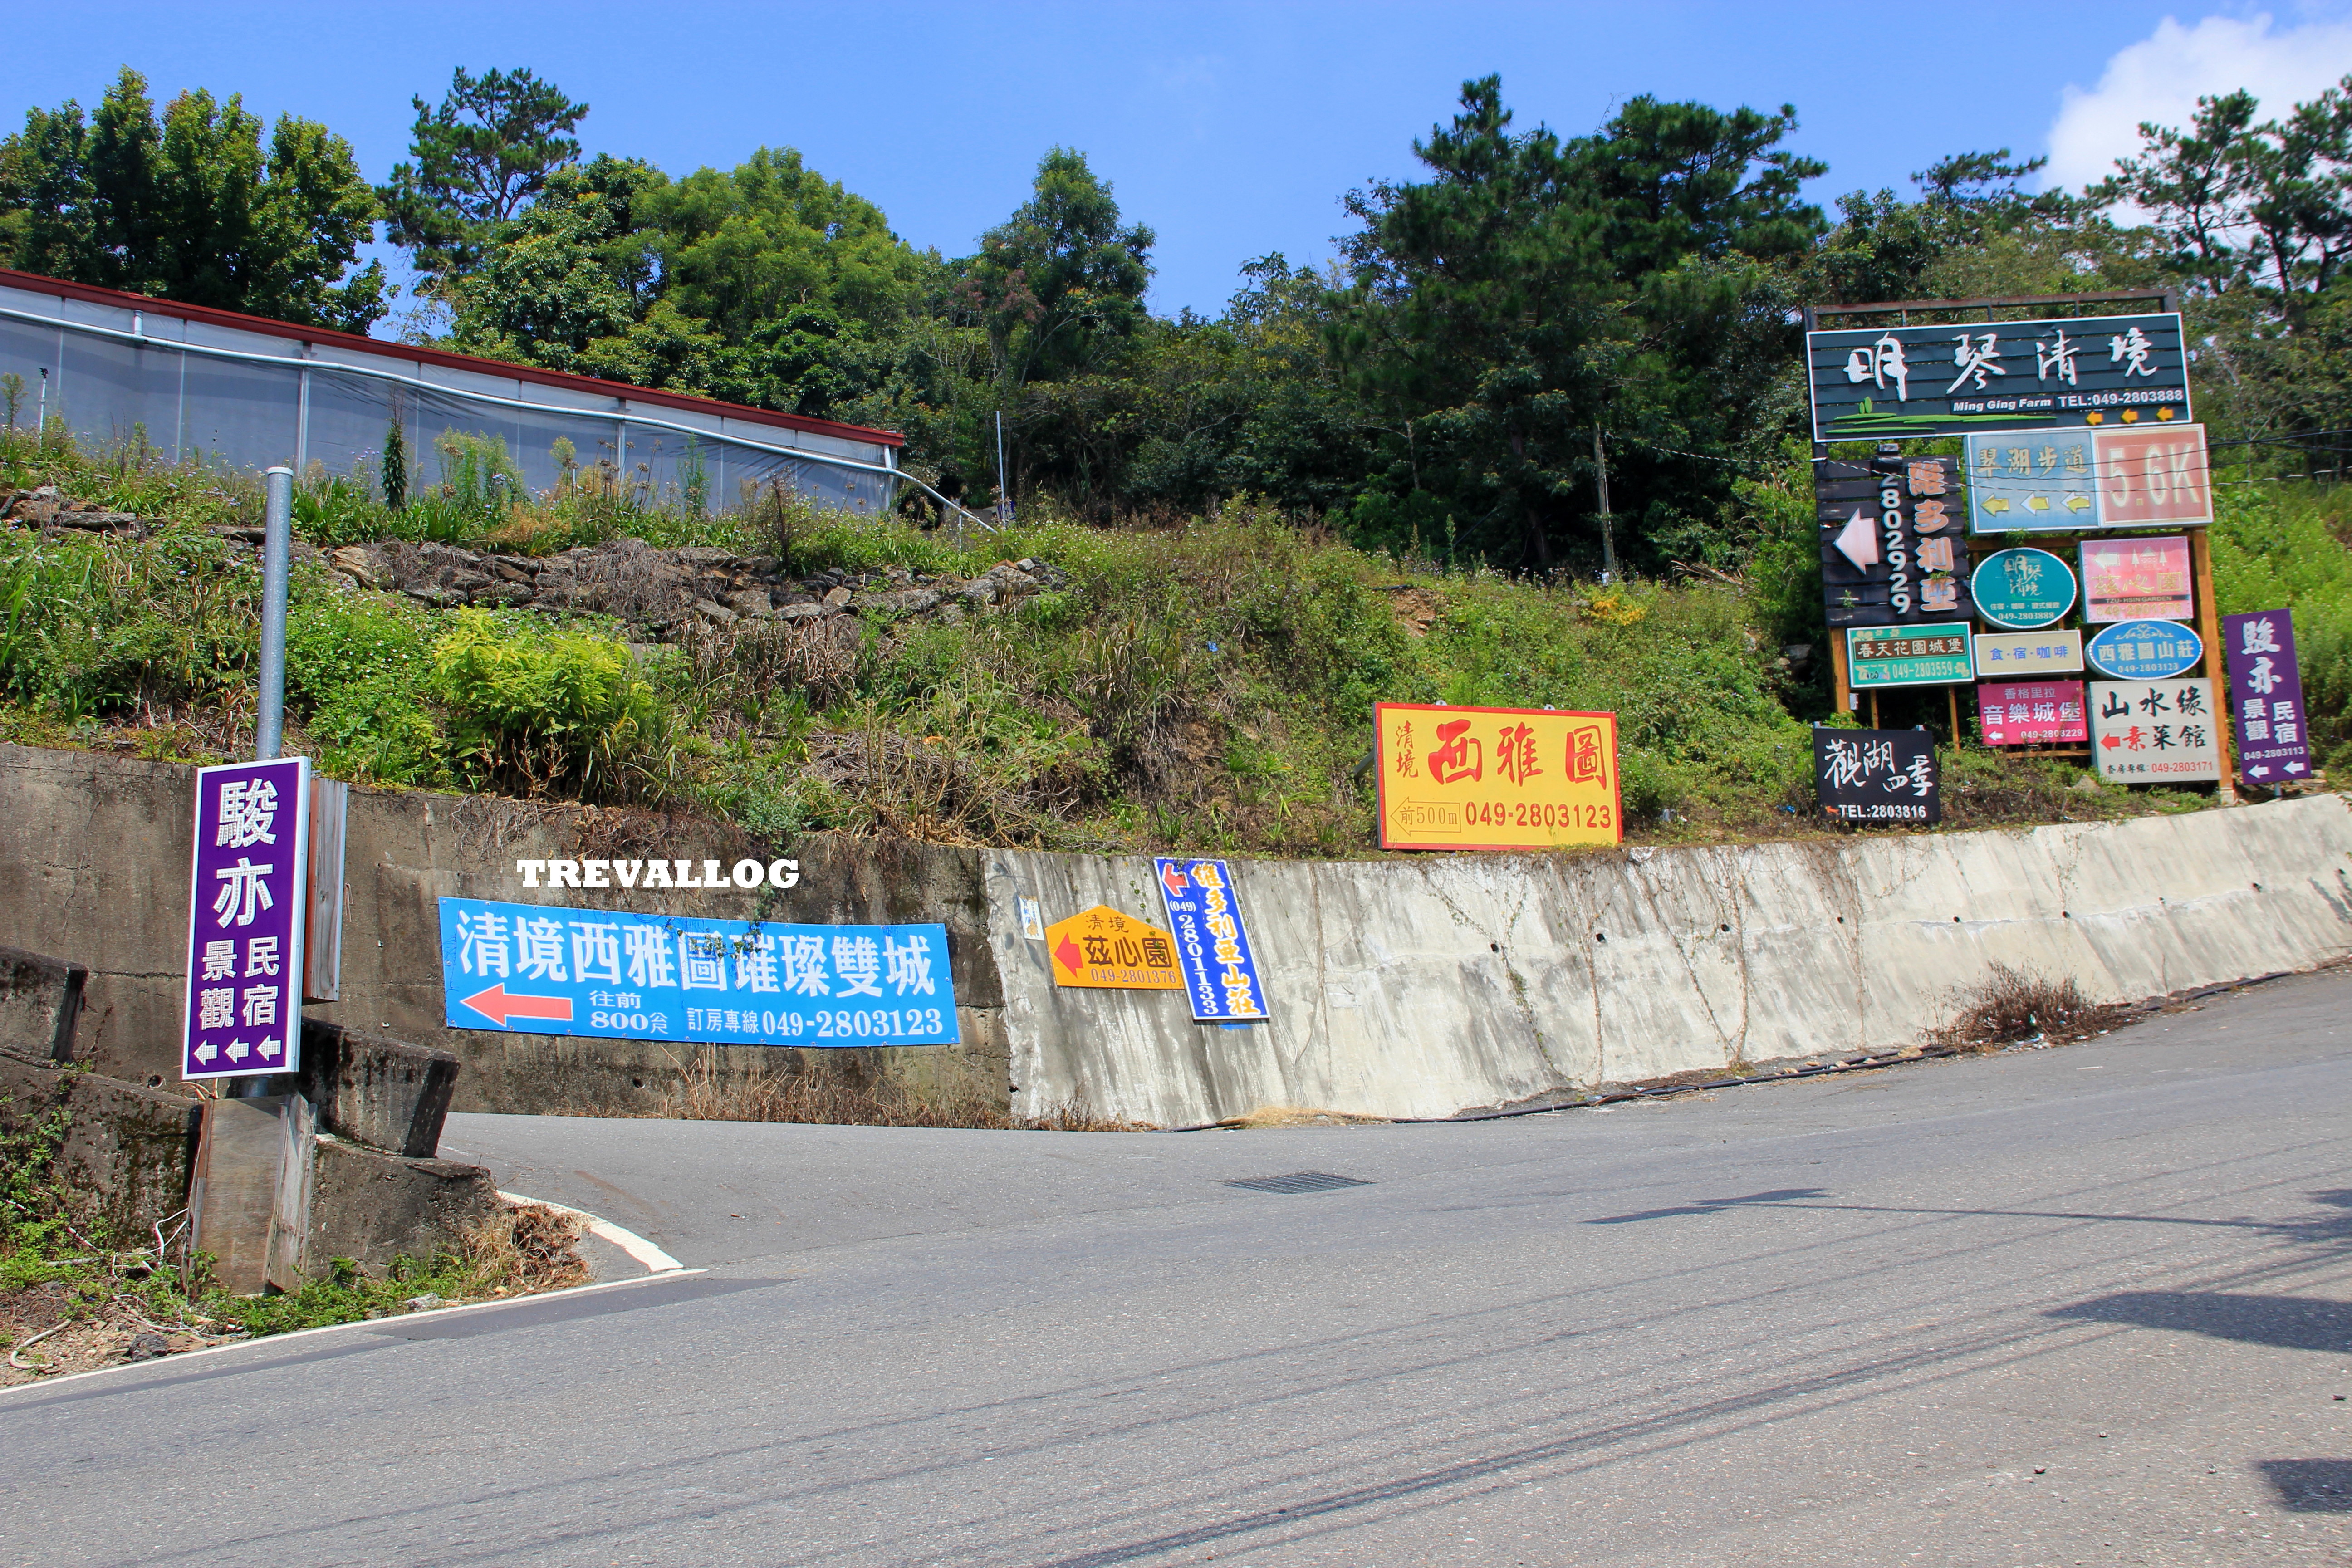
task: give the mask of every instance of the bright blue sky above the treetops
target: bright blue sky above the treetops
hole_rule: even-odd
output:
[[[1338,197],[1414,172],[1411,141],[1498,71],[1522,125],[1599,125],[1649,92],[1795,103],[1816,200],[2011,146],[2077,179],[2194,92],[2288,94],[2352,71],[2352,5],[71,5],[9,16],[0,125],[94,103],[118,66],[158,94],[242,92],[402,158],[409,94],[452,66],[532,66],[593,106],[588,150],[673,174],[760,143],[969,252],[1065,143],[1160,233],[1157,310],[1214,313],[1249,256],[1329,254]]]

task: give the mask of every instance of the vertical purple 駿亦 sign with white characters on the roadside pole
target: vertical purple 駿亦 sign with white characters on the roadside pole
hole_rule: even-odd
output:
[[[183,1079],[301,1065],[308,853],[308,757],[198,769]]]

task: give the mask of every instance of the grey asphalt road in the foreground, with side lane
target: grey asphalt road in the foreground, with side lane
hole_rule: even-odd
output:
[[[2347,1058],[2331,973],[1472,1126],[454,1117],[708,1272],[0,1394],[0,1547],[2352,1563]]]

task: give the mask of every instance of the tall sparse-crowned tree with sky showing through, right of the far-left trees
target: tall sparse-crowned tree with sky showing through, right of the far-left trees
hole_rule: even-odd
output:
[[[473,75],[459,66],[440,103],[409,103],[414,162],[395,165],[376,195],[386,237],[435,280],[477,266],[489,233],[581,155],[572,132],[588,106],[529,71]]]

